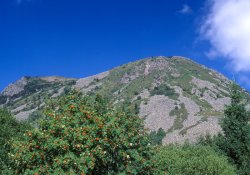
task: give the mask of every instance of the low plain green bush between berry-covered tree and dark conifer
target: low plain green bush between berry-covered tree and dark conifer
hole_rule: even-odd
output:
[[[155,174],[168,175],[234,175],[226,157],[204,146],[164,146],[155,150]]]

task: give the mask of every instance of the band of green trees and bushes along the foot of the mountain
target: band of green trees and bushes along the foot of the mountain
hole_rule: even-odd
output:
[[[32,128],[0,110],[0,174],[249,174],[249,115],[236,86],[223,134],[196,145],[162,146],[164,131],[99,95],[80,92],[50,101]]]

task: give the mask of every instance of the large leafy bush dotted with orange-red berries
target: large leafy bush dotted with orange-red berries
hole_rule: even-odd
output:
[[[13,144],[18,174],[152,174],[138,117],[78,92],[48,104],[39,129]]]

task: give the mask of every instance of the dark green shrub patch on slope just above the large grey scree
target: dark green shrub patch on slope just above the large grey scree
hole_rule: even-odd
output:
[[[175,93],[174,89],[170,88],[166,84],[161,84],[160,86],[156,86],[153,90],[150,91],[150,95],[165,95],[172,99],[177,99],[178,94]]]

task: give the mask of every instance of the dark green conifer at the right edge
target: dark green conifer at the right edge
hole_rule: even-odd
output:
[[[219,147],[237,165],[239,174],[250,174],[250,125],[243,96],[235,84],[231,90],[231,104],[224,111],[223,138]]]

